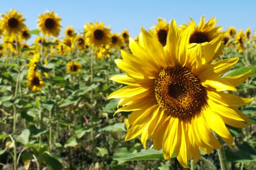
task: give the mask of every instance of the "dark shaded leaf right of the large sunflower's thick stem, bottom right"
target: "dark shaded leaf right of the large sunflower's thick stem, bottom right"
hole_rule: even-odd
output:
[[[256,161],[256,151],[255,148],[250,146],[247,142],[243,144],[236,144],[238,146],[238,151],[226,150],[226,159],[228,162],[249,162]]]

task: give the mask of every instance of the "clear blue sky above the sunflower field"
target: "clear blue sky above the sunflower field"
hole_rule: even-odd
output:
[[[177,24],[186,24],[189,17],[199,22],[201,15],[206,21],[211,17],[218,19],[218,26],[234,26],[237,30],[256,30],[256,1],[141,1],[141,0],[2,0],[0,13],[9,9],[18,9],[26,18],[26,25],[30,30],[36,29],[38,14],[54,10],[62,18],[62,33],[67,26],[73,26],[77,32],[82,32],[85,22],[104,22],[110,26],[112,32],[129,30],[135,37],[141,26],[150,29],[157,23],[158,17],[167,21],[176,19]]]

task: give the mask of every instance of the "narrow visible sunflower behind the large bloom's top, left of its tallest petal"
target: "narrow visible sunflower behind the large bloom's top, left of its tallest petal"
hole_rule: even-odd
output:
[[[166,20],[163,21],[161,17],[158,17],[158,24],[155,24],[155,26],[153,26],[152,34],[156,36],[162,46],[166,45],[168,29],[169,26],[166,23]]]

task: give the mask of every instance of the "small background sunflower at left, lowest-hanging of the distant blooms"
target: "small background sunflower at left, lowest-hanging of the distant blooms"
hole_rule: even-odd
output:
[[[28,71],[27,87],[33,92],[41,91],[44,82],[38,71]]]

